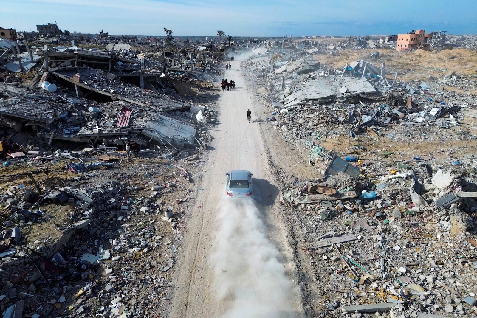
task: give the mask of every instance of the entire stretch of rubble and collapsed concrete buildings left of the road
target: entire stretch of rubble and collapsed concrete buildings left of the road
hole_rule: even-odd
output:
[[[2,77],[3,317],[168,315],[222,53],[114,46],[45,46]]]

